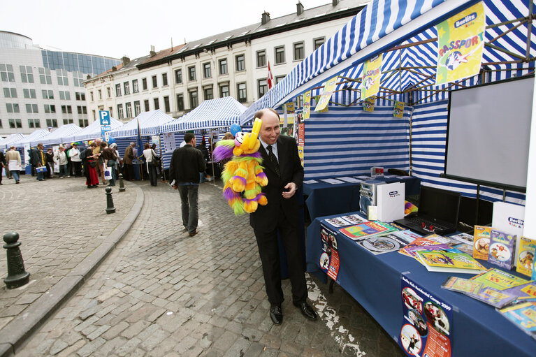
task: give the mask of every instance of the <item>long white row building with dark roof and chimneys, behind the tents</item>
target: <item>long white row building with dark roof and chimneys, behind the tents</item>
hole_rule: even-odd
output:
[[[277,83],[366,2],[333,0],[311,9],[298,2],[296,13],[271,19],[265,12],[247,27],[125,58],[114,71],[85,80],[90,121],[99,110],[124,122],[154,109],[180,117],[201,101],[224,96],[251,105],[268,91],[268,61]]]

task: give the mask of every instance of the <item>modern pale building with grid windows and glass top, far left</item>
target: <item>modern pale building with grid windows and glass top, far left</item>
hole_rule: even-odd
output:
[[[82,82],[119,63],[110,57],[45,50],[27,36],[0,31],[0,136],[52,131],[71,123],[87,126]]]

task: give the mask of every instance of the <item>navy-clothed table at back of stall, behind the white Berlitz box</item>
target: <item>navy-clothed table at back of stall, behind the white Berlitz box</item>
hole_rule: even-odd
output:
[[[370,177],[369,180],[381,180],[387,183],[404,182],[406,196],[418,195],[421,187],[421,180],[412,176]],[[305,204],[309,210],[311,221],[328,214],[359,210],[359,188],[361,186],[359,183],[328,184],[317,181],[316,184],[303,184],[303,194],[308,196]]]

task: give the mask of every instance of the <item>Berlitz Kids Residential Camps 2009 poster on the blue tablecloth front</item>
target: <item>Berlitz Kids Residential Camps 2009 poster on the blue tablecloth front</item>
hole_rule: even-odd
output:
[[[398,344],[407,356],[450,357],[452,307],[402,275]]]

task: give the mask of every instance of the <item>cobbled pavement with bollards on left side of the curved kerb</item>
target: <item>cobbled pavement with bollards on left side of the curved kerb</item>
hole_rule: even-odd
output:
[[[139,191],[136,186],[131,187],[135,190],[127,189],[121,194],[117,188],[113,190],[116,213],[106,214],[104,189],[87,189],[83,178],[38,182],[36,177],[22,175],[20,184],[3,180],[0,200],[4,213],[0,219],[0,234],[19,233],[20,250],[25,270],[30,273],[30,282],[11,290],[4,284],[1,286],[1,342],[6,342],[6,334],[13,335],[14,328],[22,328],[20,323],[17,324],[17,316],[35,315],[36,309],[44,313],[43,309],[53,307],[48,294],[58,289],[52,288],[64,283],[67,275],[80,268],[80,263],[101,247],[131,212],[136,191]],[[4,252],[0,254],[0,267],[6,277]],[[71,277],[70,280],[76,279]],[[78,277],[78,281],[82,282],[83,277]],[[28,325],[30,319],[26,320],[24,323]]]

